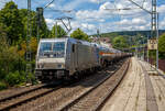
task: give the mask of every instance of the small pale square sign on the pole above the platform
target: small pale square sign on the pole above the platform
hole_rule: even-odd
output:
[[[157,40],[156,38],[150,38],[147,40],[147,49],[157,49]]]

